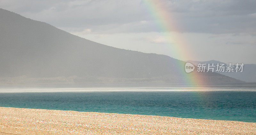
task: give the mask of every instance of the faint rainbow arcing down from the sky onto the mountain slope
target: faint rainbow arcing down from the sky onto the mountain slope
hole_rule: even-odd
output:
[[[198,83],[204,82],[202,76],[196,73],[186,73],[184,71],[184,62],[181,60],[189,60],[191,56],[191,48],[188,43],[182,37],[172,34],[173,31],[179,31],[178,25],[175,22],[172,14],[168,12],[168,8],[163,0],[142,0],[143,4],[148,9],[148,12],[152,15],[153,19],[156,20],[156,25],[159,31],[166,37],[166,41],[169,44],[168,47],[176,59],[179,59],[177,69],[180,70],[180,75],[185,78],[185,82],[188,86],[195,87]],[[196,69],[194,70],[194,72]]]

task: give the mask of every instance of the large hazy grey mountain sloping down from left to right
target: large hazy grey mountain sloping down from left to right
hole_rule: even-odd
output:
[[[99,44],[0,9],[0,84],[241,82],[218,73],[185,73],[166,55]],[[181,71],[180,71],[181,70]]]

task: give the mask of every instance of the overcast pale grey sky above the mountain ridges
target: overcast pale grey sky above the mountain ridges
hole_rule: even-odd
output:
[[[0,8],[118,48],[181,60],[256,64],[255,0],[150,1],[1,0]],[[159,17],[163,12],[167,17]]]

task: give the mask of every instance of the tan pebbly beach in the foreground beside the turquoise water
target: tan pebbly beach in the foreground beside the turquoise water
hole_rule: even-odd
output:
[[[0,107],[0,134],[256,134],[256,123]]]

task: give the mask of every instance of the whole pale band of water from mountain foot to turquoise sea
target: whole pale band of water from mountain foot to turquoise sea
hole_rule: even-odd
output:
[[[2,86],[3,92],[100,92],[100,91],[256,91],[256,83],[211,83],[191,87],[190,84],[84,84],[52,86]]]

